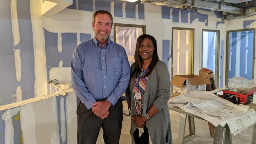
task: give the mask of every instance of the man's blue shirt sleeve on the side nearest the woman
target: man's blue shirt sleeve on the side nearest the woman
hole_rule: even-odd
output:
[[[111,92],[111,94],[107,98],[107,100],[113,106],[116,104],[117,100],[124,94],[130,81],[130,63],[123,47],[121,52],[121,76],[114,91]]]

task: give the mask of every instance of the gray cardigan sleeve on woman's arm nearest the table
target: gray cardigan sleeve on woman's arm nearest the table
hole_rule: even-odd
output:
[[[171,90],[171,81],[168,68],[164,62],[161,62],[157,68],[157,77],[158,77],[158,92],[157,98],[153,102],[153,105],[161,110],[170,99],[170,90]]]

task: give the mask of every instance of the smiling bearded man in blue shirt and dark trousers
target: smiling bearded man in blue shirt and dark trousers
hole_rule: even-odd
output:
[[[80,99],[77,107],[77,143],[95,144],[103,129],[105,144],[118,144],[123,121],[121,95],[130,79],[130,65],[122,46],[109,39],[113,17],[93,14],[92,40],[79,44],[71,60],[72,85]]]

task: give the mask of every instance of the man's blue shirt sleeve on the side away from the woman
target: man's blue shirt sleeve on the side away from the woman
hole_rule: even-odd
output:
[[[76,96],[87,107],[92,108],[92,103],[96,102],[92,94],[88,91],[83,79],[83,61],[81,56],[81,49],[79,45],[75,48],[71,59],[71,82],[73,89],[76,92]]]

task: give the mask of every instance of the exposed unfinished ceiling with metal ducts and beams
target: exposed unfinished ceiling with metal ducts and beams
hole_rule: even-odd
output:
[[[222,12],[224,19],[256,15],[256,0],[123,0],[187,10],[209,9]]]

